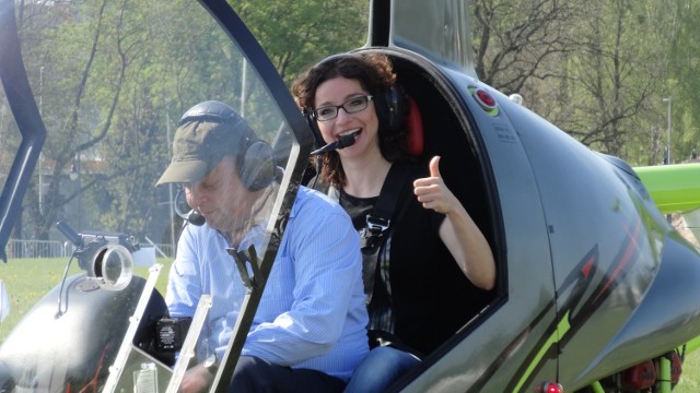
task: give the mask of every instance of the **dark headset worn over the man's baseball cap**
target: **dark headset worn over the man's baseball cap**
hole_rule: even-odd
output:
[[[238,140],[235,140],[238,144],[235,155],[236,169],[241,182],[247,190],[261,190],[275,180],[277,166],[272,147],[259,139],[229,105],[217,100],[198,104],[183,115],[178,126],[189,121],[232,124],[233,131],[240,133]]]

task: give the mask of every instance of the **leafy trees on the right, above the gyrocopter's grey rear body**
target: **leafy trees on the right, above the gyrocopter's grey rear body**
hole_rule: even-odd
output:
[[[526,106],[582,143],[632,165],[661,164],[663,98],[673,95],[672,158],[695,148],[688,114],[697,111],[685,109],[699,91],[688,59],[698,52],[692,1],[477,0],[471,11],[479,78],[521,93]],[[679,81],[687,97],[676,98],[678,69],[686,70]]]

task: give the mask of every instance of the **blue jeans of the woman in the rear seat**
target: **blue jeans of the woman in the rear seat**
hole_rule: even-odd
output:
[[[420,359],[409,353],[389,346],[373,348],[354,369],[345,393],[382,392],[418,364]]]

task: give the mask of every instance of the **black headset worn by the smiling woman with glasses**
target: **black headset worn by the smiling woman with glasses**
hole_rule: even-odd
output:
[[[343,58],[357,58],[361,59],[361,55],[358,53],[340,53],[334,55],[319,61],[312,68],[312,70],[334,63]],[[331,66],[332,67],[332,66]],[[318,87],[318,86],[316,86]],[[376,108],[376,116],[380,120],[380,132],[390,132],[397,130],[404,124],[408,112],[408,99],[400,85],[393,84],[386,91],[378,94],[373,94],[374,107]],[[305,108],[303,111],[308,127],[311,127],[314,133],[314,139],[318,146],[326,144],[324,138],[316,122],[316,116],[312,108]]]

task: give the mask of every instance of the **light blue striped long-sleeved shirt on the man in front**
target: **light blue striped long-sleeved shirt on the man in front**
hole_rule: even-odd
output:
[[[242,355],[347,381],[369,352],[359,241],[342,207],[300,188]],[[246,293],[228,247],[208,225],[187,225],[165,297],[172,317],[191,317],[212,295],[202,335],[219,358]]]

